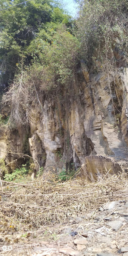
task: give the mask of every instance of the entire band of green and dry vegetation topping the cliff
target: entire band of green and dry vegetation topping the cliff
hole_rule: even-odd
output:
[[[122,65],[128,51],[128,1],[77,2],[76,21],[55,0],[0,12],[0,84],[9,85],[3,101],[11,106],[15,123],[32,119],[32,104],[43,111],[47,93],[68,96],[79,59],[108,73]],[[17,3],[1,0],[0,9]]]

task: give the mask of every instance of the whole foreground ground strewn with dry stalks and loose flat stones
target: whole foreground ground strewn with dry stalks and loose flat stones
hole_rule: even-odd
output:
[[[3,182],[0,256],[128,256],[128,176]]]

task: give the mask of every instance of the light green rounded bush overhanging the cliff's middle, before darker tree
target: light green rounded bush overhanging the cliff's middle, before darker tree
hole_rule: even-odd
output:
[[[45,35],[44,40],[42,34]],[[73,80],[77,49],[78,41],[67,31],[66,26],[49,23],[47,29],[41,30],[29,45],[32,61],[24,81],[26,84],[34,81],[46,91],[59,86],[68,87]]]

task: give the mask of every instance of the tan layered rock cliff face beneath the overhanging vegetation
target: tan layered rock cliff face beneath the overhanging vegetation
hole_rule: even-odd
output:
[[[32,108],[29,135],[32,157],[46,172],[79,170],[82,166],[79,175],[82,173],[91,180],[101,173],[120,172],[122,166],[127,169],[127,95],[127,68],[120,69],[113,79],[102,72],[90,74],[81,61],[73,91],[67,90],[62,99],[59,96],[45,99],[41,111]],[[23,153],[25,131],[17,134],[11,144],[15,152]],[[7,141],[8,137],[3,139],[1,135],[0,147],[12,151]],[[8,162],[2,151],[0,156]]]

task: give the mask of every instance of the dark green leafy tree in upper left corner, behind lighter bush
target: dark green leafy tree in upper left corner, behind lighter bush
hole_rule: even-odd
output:
[[[0,9],[20,3],[20,0],[0,2]],[[71,17],[57,7],[54,0],[35,0],[0,12],[0,80],[8,86],[32,55],[27,48],[49,22],[71,25]],[[42,31],[43,33],[43,31]],[[45,35],[42,35],[42,39]],[[30,49],[30,48],[29,48]]]

